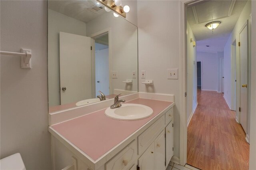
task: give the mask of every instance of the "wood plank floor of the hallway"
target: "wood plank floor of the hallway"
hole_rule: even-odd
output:
[[[198,90],[188,126],[187,164],[202,170],[248,170],[249,144],[222,93]]]

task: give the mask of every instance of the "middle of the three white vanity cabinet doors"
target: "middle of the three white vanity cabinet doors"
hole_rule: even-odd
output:
[[[155,169],[165,170],[165,138],[164,130],[155,140]]]

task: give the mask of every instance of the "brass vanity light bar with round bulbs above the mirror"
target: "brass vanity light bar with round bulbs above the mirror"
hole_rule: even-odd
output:
[[[110,12],[112,10],[114,12],[114,16],[118,17],[119,15],[126,18],[126,13],[130,11],[130,7],[125,5],[121,6],[121,0],[95,0],[97,3],[105,6],[106,12]]]

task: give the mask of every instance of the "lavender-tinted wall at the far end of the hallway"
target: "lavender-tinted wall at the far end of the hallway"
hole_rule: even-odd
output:
[[[197,61],[202,61],[202,90],[217,91],[217,53],[197,51]]]

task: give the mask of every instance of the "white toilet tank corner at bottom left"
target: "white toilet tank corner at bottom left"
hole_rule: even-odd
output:
[[[2,158],[0,160],[0,170],[26,170],[20,153]]]

